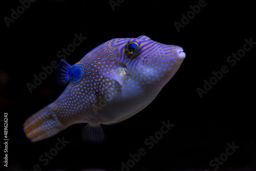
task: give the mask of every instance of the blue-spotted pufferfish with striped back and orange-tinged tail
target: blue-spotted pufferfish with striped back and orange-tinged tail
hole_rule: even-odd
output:
[[[121,122],[144,109],[178,71],[184,58],[179,46],[139,36],[106,41],[73,66],[61,59],[57,81],[68,84],[67,88],[25,121],[24,132],[36,142],[72,124],[88,123],[85,139],[102,142],[101,124]]]

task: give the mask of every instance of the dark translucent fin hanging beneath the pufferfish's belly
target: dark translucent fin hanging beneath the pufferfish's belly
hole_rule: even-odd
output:
[[[82,132],[82,139],[87,142],[101,143],[104,137],[101,125],[92,126],[88,124]]]

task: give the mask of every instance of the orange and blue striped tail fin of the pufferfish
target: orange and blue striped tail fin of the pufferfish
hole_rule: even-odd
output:
[[[30,116],[23,126],[24,133],[32,142],[52,137],[65,129],[54,114],[52,104]]]

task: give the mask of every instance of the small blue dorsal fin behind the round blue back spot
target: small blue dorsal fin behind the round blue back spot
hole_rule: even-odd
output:
[[[70,81],[70,76],[69,76],[70,68],[71,66],[66,60],[60,59],[59,66],[55,70],[56,79],[59,86],[63,86]]]

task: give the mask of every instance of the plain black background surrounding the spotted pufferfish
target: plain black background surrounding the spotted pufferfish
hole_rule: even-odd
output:
[[[38,0],[9,28],[4,17],[10,17],[11,9],[16,11],[20,3],[2,2],[0,119],[8,113],[7,170],[32,170],[39,164],[42,170],[119,171],[121,162],[126,163],[129,154],[138,153],[139,148],[145,148],[146,155],[131,170],[214,170],[209,162],[225,153],[227,143],[232,142],[239,148],[218,170],[254,170],[252,59],[256,45],[235,66],[227,62],[229,55],[243,48],[245,39],[256,41],[254,5],[246,1],[205,1],[206,6],[178,33],[174,22],[181,23],[181,14],[186,15],[189,6],[198,2],[126,0],[113,11],[109,1]],[[72,125],[54,137],[31,143],[22,130],[24,121],[53,102],[65,88],[57,86],[54,74],[32,94],[26,84],[33,83],[33,75],[39,75],[42,66],[59,60],[56,53],[80,33],[87,39],[67,57],[71,65],[105,41],[140,35],[181,46],[186,58],[144,110],[120,123],[102,126],[102,144],[82,141],[86,124]],[[200,98],[197,88],[203,89],[204,79],[209,80],[212,71],[220,71],[222,66],[228,67],[228,73]],[[160,131],[162,121],[167,120],[175,126],[148,149],[144,140]],[[3,122],[1,130],[3,135]],[[69,143],[45,166],[39,156],[49,152],[62,137]]]

